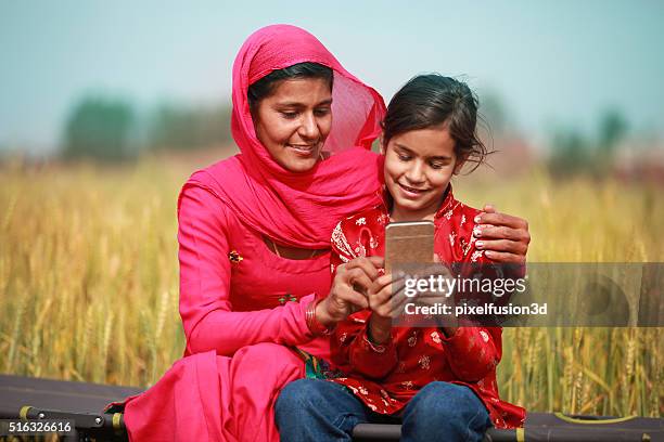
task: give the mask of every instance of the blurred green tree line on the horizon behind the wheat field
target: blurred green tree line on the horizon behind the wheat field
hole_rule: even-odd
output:
[[[487,94],[481,106],[489,136],[500,138],[512,126],[500,99]],[[127,100],[90,95],[77,102],[66,120],[61,145],[64,158],[127,160],[148,151],[186,151],[232,141],[231,105],[194,106],[164,103],[140,114]],[[547,164],[557,176],[601,174],[610,169],[628,130],[617,109],[600,115],[595,133],[559,127],[550,136]]]

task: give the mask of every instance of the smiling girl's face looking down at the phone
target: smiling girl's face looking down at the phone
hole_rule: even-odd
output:
[[[458,166],[447,128],[440,125],[395,135],[383,150],[394,221],[433,220]]]

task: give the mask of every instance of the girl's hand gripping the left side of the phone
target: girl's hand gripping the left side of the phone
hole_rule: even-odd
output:
[[[408,298],[404,294],[404,277],[392,274],[379,276],[367,291],[371,317],[369,336],[374,343],[390,340],[392,320],[403,313]]]

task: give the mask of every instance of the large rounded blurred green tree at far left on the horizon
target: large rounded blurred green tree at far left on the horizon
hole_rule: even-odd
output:
[[[136,115],[127,102],[103,96],[80,100],[67,118],[62,153],[66,158],[126,159]]]

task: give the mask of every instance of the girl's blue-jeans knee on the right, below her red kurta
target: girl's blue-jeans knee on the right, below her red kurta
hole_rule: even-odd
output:
[[[490,425],[486,407],[470,388],[431,382],[406,405],[401,442],[481,441]]]

